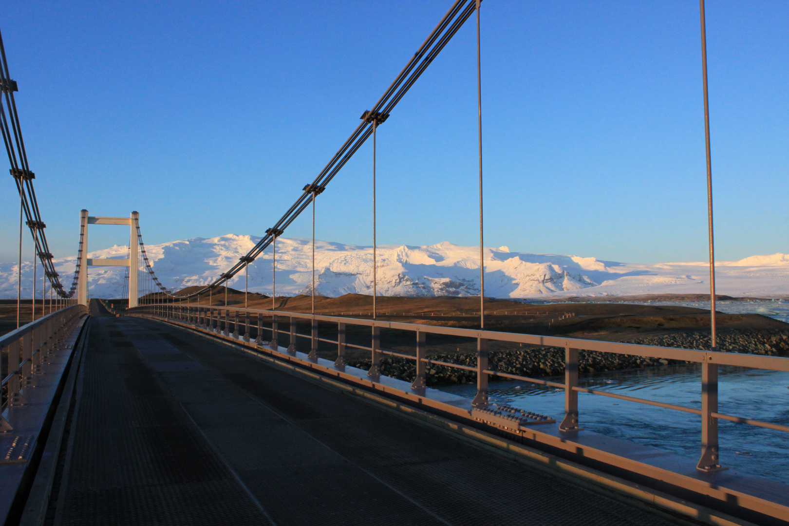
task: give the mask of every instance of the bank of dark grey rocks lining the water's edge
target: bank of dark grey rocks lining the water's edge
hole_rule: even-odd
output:
[[[728,330],[718,334],[721,350],[729,353],[753,353],[765,356],[789,356],[789,331],[787,330]],[[709,350],[709,333],[668,334],[636,338],[625,343],[660,345],[662,347],[681,347],[682,349]],[[432,360],[452,364],[477,366],[477,356],[466,354],[441,354],[430,356]],[[579,370],[583,372],[619,371],[656,365],[681,364],[679,360],[664,360],[596,351],[579,353]],[[349,365],[368,370],[370,360],[350,360]],[[564,349],[560,347],[533,347],[492,351],[488,354],[488,364],[494,371],[510,375],[555,376],[564,373]],[[381,374],[392,378],[413,382],[417,370],[413,360],[397,356],[382,356]],[[496,377],[492,376],[492,380]],[[444,365],[428,364],[428,386],[476,382],[477,374]]]

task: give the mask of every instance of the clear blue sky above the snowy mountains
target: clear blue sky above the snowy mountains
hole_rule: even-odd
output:
[[[2,2],[52,252],[76,252],[81,208],[140,211],[148,244],[261,235],[450,4]],[[706,258],[698,16],[692,0],[485,0],[486,245]],[[789,252],[787,27],[789,2],[707,2],[718,259]],[[478,242],[475,61],[469,23],[380,127],[379,243]],[[371,175],[368,143],[319,197],[319,239],[372,243]],[[286,236],[309,237],[308,215]],[[127,240],[90,231],[91,249]]]

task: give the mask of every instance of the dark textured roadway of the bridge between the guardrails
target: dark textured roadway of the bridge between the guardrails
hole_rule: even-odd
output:
[[[667,524],[226,345],[94,317],[53,524]]]

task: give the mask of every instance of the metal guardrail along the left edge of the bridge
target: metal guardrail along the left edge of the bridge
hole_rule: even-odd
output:
[[[2,409],[27,404],[22,390],[36,386],[43,358],[53,353],[82,315],[87,314],[88,308],[84,305],[72,305],[0,336],[0,349],[8,356],[0,364]],[[0,415],[0,433],[11,431],[11,424]]]

